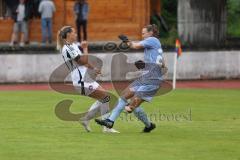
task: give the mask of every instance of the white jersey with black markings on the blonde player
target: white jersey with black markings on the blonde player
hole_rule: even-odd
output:
[[[63,59],[68,67],[68,69],[71,71],[71,77],[73,84],[80,83],[84,81],[84,76],[87,71],[87,67],[83,65],[78,65],[74,59],[77,56],[81,56],[83,53],[78,48],[78,45],[73,43],[71,45],[67,44],[64,45],[62,48],[62,56]]]

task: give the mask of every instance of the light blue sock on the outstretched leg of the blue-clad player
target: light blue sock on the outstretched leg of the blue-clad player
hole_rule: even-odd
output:
[[[119,98],[117,106],[113,109],[112,114],[108,119],[114,122],[120,116],[126,105],[127,101]]]

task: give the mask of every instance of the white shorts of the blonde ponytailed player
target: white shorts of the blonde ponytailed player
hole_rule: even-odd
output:
[[[81,84],[73,84],[74,88],[82,94],[82,86]],[[84,91],[85,96],[89,96],[91,93],[93,93],[100,85],[95,82],[84,82]]]

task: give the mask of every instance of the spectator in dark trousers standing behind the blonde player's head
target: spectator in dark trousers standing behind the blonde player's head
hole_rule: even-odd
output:
[[[74,5],[78,42],[82,41],[81,30],[83,29],[83,40],[87,40],[87,19],[89,6],[86,0],[77,0]]]

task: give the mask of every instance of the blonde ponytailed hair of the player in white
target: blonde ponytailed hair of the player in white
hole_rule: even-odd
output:
[[[61,50],[63,45],[65,44],[65,39],[67,38],[67,34],[73,31],[72,26],[64,26],[62,27],[57,34],[57,49]]]

